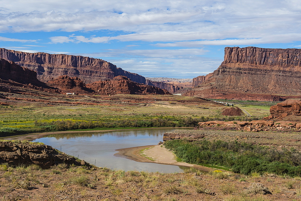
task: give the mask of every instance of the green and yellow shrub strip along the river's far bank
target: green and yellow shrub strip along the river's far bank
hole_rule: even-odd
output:
[[[85,118],[82,118],[85,119]],[[201,121],[252,121],[258,117],[189,117],[189,116],[145,116],[98,118],[95,120],[68,119],[35,119],[33,121],[2,121],[0,137],[20,135],[26,133],[83,130],[100,128],[147,128],[147,127],[195,127]],[[1,122],[1,121],[0,121]]]

